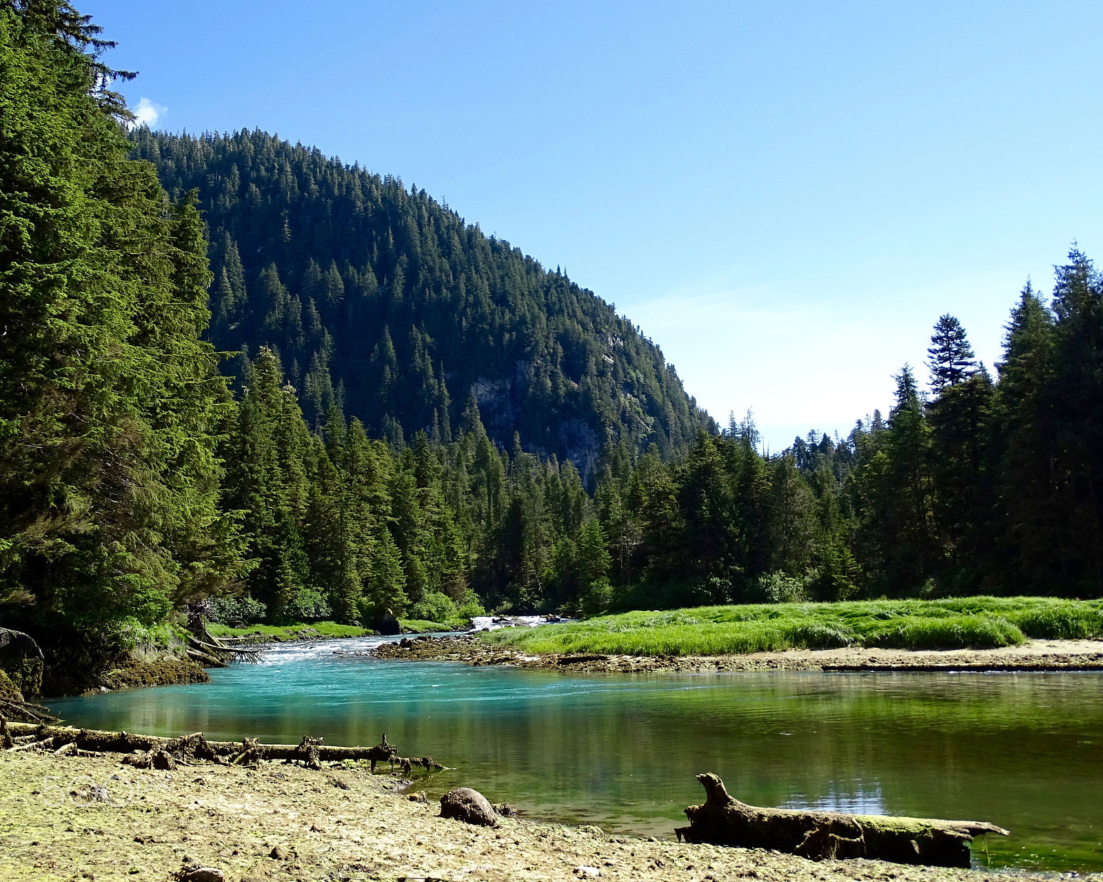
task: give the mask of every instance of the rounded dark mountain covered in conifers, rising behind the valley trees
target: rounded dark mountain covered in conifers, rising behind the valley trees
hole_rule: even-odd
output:
[[[312,428],[336,402],[374,437],[447,443],[473,397],[500,447],[586,480],[609,441],[670,458],[715,430],[631,322],[424,190],[260,131],[132,139],[170,198],[199,192],[212,341],[277,353]]]

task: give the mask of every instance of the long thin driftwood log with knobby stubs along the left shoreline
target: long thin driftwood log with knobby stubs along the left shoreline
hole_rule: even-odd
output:
[[[207,741],[202,732],[195,732],[182,738],[157,738],[154,735],[136,735],[130,732],[103,732],[96,729],[74,729],[67,725],[34,725],[31,723],[8,723],[9,738],[20,743],[9,751],[53,750],[66,744],[74,744],[79,753],[125,753],[133,759],[131,765],[140,767],[165,767],[161,756],[164,754],[174,762],[206,761],[222,764],[254,765],[261,760],[285,762],[301,762],[311,768],[321,768],[322,763],[344,762],[345,760],[367,760],[375,771],[379,760],[390,762],[392,768],[399,764],[404,772],[410,772],[414,766],[421,766],[427,772],[435,772],[445,766],[435,762],[431,756],[420,759],[403,757],[398,749],[387,744],[386,735],[383,742],[372,747],[339,747],[322,744],[320,738],[304,735],[298,744],[261,744],[256,739],[244,741]]]

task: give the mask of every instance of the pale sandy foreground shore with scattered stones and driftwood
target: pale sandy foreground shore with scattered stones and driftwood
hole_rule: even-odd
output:
[[[118,759],[0,753],[0,879],[160,882],[185,861],[217,868],[228,882],[993,878],[865,860],[814,863],[514,818],[472,827],[438,817],[437,804],[411,802],[395,792],[397,779],[362,768],[265,763],[159,772]]]

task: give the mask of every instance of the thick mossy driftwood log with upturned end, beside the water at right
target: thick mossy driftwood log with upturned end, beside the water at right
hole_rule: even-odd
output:
[[[697,781],[705,787],[705,805],[686,809],[689,826],[675,829],[679,841],[767,848],[811,860],[870,858],[967,868],[974,836],[1008,835],[986,821],[759,808],[729,796],[710,772]]]

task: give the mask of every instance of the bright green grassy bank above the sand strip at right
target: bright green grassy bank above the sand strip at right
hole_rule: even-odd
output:
[[[1029,638],[1103,638],[1103,601],[962,598],[700,606],[503,628],[482,638],[531,653],[624,655],[726,655],[840,646],[995,648]]]

